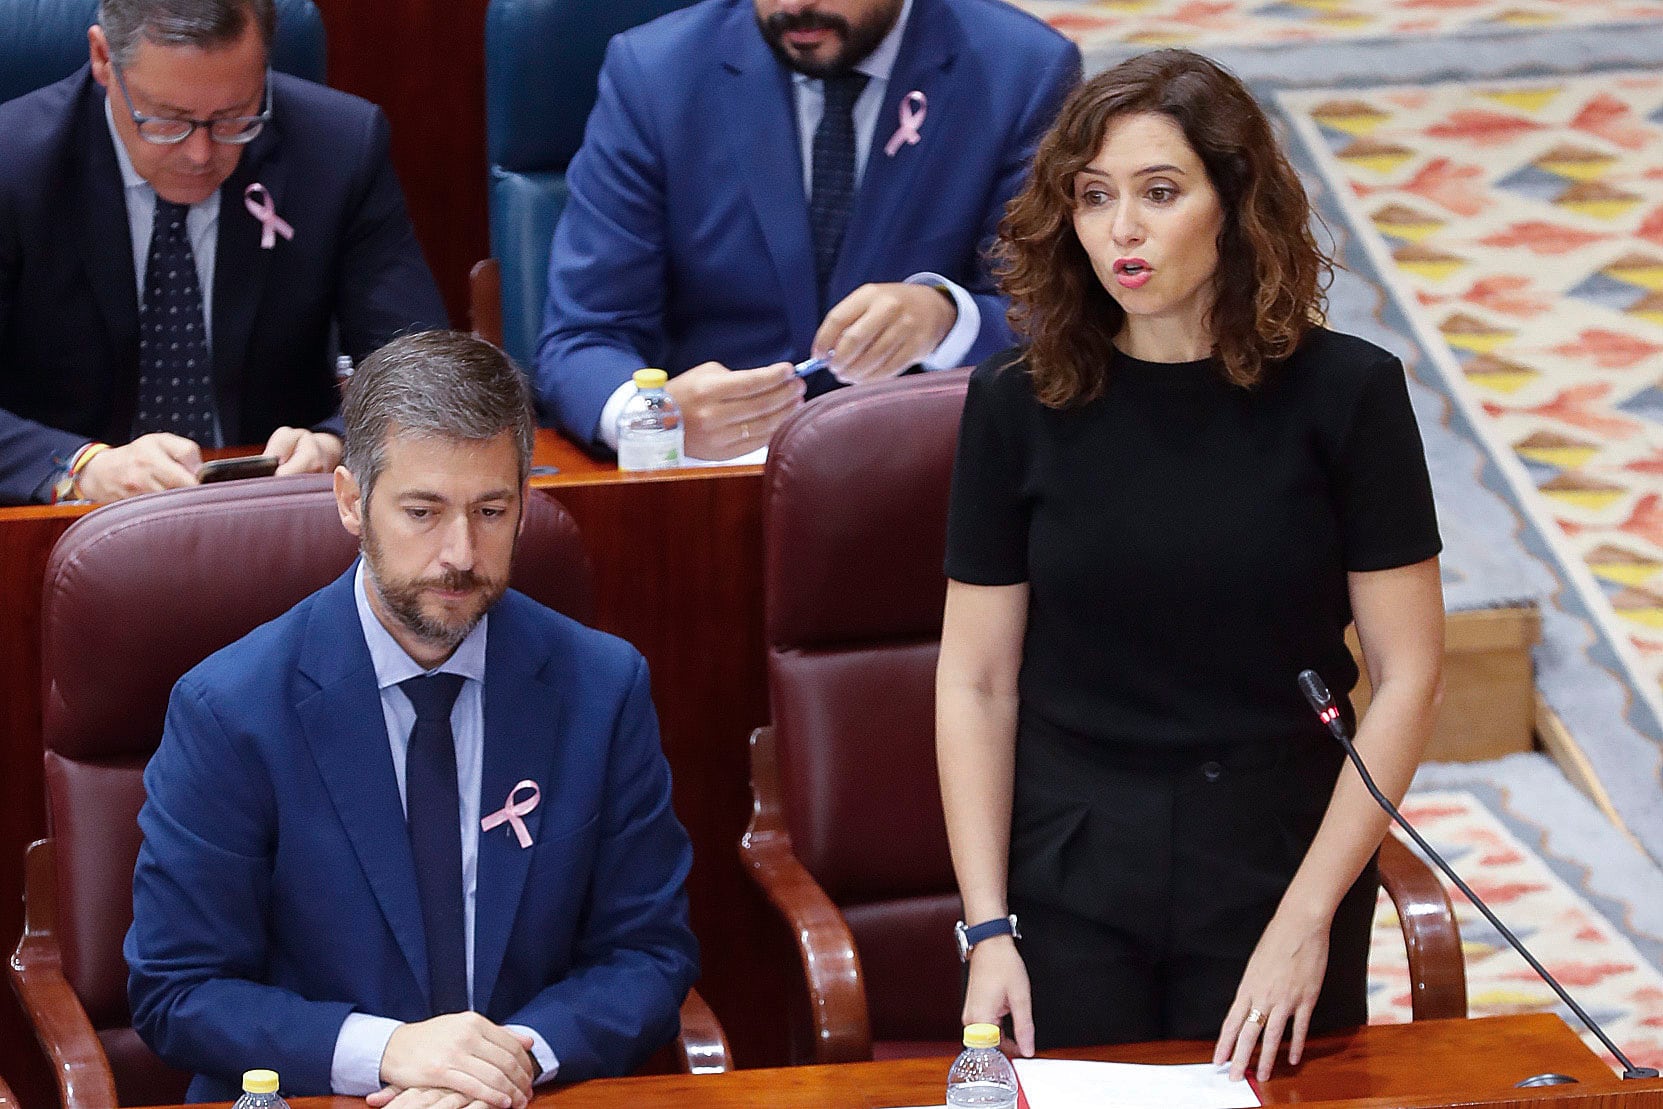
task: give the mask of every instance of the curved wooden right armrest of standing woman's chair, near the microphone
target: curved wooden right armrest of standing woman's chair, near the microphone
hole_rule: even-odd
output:
[[[1467,961],[1460,926],[1443,883],[1419,855],[1387,833],[1380,843],[1380,885],[1397,906],[1409,948],[1410,1006],[1417,1021],[1467,1016]]]

